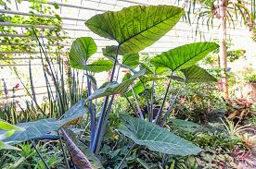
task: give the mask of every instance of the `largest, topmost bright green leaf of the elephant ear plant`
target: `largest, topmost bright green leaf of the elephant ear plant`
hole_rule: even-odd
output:
[[[136,54],[172,30],[183,14],[184,9],[176,6],[131,6],[98,14],[85,25],[119,42],[122,54]]]

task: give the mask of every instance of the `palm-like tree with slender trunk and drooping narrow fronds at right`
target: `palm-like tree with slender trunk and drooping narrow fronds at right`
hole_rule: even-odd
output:
[[[177,1],[180,2],[180,1]],[[248,2],[239,0],[192,0],[186,1],[185,6],[188,8],[187,16],[190,22],[190,15],[196,14],[196,23],[198,25],[206,24],[210,29],[215,21],[219,21],[219,56],[220,67],[222,71],[222,85],[224,89],[224,99],[228,99],[228,85],[227,85],[227,46],[226,46],[226,31],[227,25],[236,27],[237,22],[243,22],[252,30],[255,27],[255,1],[250,1],[250,6],[247,7]]]

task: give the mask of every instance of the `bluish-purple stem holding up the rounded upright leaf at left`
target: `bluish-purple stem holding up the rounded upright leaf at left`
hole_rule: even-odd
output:
[[[84,66],[85,66],[85,73],[86,73],[86,79],[87,79],[87,94],[88,97],[91,95],[91,83],[89,79],[89,74],[88,74],[88,68],[87,68],[87,60],[84,61]],[[90,115],[91,115],[91,141],[90,141],[90,147],[92,147],[92,143],[94,141],[95,137],[95,132],[96,132],[96,114],[94,112],[94,107],[93,107],[93,102],[89,101],[89,109],[90,109]]]

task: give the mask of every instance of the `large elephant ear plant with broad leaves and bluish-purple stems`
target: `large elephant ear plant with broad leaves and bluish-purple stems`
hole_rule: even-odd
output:
[[[85,168],[91,168],[92,166],[89,161],[85,159],[85,156],[81,154],[81,151],[69,139],[67,127],[75,125],[74,121],[88,113],[90,116],[89,150],[91,153],[93,152],[98,155],[105,128],[108,124],[114,95],[122,94],[122,96],[126,97],[127,101],[129,101],[129,97],[134,97],[137,108],[137,110],[134,109],[134,114],[137,115],[137,118],[130,115],[121,115],[122,124],[119,127],[119,131],[123,135],[133,139],[135,144],[147,146],[151,151],[160,151],[173,155],[198,154],[201,151],[198,146],[175,136],[172,132],[163,128],[167,117],[172,111],[178,92],[167,110],[164,109],[163,105],[167,100],[172,79],[182,81],[182,83],[215,80],[206,70],[195,66],[195,64],[211,51],[218,48],[218,45],[213,42],[186,44],[156,55],[151,60],[151,66],[147,66],[145,63],[140,63],[139,65],[138,53],[160,40],[168,31],[172,30],[173,26],[183,15],[184,10],[176,6],[131,6],[117,12],[108,11],[98,14],[88,19],[85,22],[88,29],[103,38],[116,41],[117,45],[107,46],[102,49],[106,59],[100,59],[92,63],[90,62],[90,57],[96,54],[97,51],[94,40],[90,37],[81,37],[72,43],[70,48],[70,66],[83,70],[87,82],[87,98],[74,104],[60,119],[46,118],[18,124],[19,127],[24,127],[25,130],[15,133],[12,137],[6,139],[6,142],[15,144],[26,140],[44,139],[45,134],[52,131],[60,131],[72,155],[71,159],[75,161],[75,164],[78,162],[76,165],[79,166],[77,167],[82,167],[81,163],[79,163],[80,160],[78,160],[81,159],[86,165],[86,167],[84,166]],[[121,56],[122,63],[118,59]],[[118,82],[121,67],[129,68],[133,73],[126,74],[122,78],[122,82]],[[112,69],[109,83],[96,89],[94,74],[108,71],[109,69]],[[167,76],[169,84],[158,114],[154,117],[152,115],[154,82],[155,80],[166,78],[163,72],[165,74],[170,72],[170,75]],[[177,77],[177,72],[183,73],[184,76]],[[136,79],[139,79],[139,81],[133,87],[134,80]],[[151,97],[147,98],[149,114],[145,116],[142,114],[140,105],[136,100],[136,93],[138,91],[145,91],[147,93],[146,85],[151,81],[152,90],[149,94]],[[100,97],[105,97],[104,102],[99,112],[96,112],[96,99]],[[151,99],[150,103],[149,98]],[[134,107],[131,102],[130,104]],[[165,114],[162,115],[162,112],[165,112]],[[58,136],[60,136],[59,133]],[[60,143],[62,145],[61,139]],[[79,152],[78,156],[75,156],[75,151]],[[69,163],[67,163],[67,168],[69,167]]]

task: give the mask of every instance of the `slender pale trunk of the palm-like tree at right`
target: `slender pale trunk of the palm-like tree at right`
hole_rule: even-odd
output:
[[[219,0],[219,9],[220,9],[220,30],[219,30],[219,43],[220,43],[220,66],[223,68],[223,77],[222,77],[222,89],[224,91],[224,99],[228,99],[228,85],[226,77],[226,0]]]

